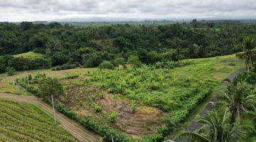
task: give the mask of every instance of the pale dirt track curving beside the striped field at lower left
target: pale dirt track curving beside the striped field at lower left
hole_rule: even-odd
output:
[[[41,99],[38,99],[34,96],[22,96],[18,94],[6,94],[0,93],[1,99],[11,99],[16,102],[26,102],[29,104],[34,104],[40,107],[46,114],[50,114],[52,116],[52,107],[50,105],[43,102]],[[67,116],[56,112],[56,119],[60,123],[60,126],[63,127],[66,131],[68,131],[72,136],[78,139],[78,141],[82,142],[98,142],[100,141],[100,137],[97,136],[96,133],[92,133],[85,129],[81,124],[69,119]]]

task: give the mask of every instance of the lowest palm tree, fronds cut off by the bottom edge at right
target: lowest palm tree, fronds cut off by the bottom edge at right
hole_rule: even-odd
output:
[[[198,142],[228,142],[239,141],[246,137],[246,129],[248,126],[239,126],[238,124],[229,124],[228,109],[224,113],[211,112],[205,117],[201,117],[198,123],[203,124],[200,133],[183,133],[176,141],[198,141]]]

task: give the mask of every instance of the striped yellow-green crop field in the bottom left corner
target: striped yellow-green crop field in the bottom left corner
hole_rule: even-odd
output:
[[[77,141],[41,109],[0,99],[0,141]]]

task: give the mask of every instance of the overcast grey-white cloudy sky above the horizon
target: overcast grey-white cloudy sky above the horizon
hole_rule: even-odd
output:
[[[256,0],[0,0],[0,21],[256,18]]]

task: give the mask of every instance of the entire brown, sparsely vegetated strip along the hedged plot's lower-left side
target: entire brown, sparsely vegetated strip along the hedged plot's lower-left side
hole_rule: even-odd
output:
[[[124,96],[113,97],[112,94],[105,94],[100,99],[100,89],[94,85],[75,85],[68,84],[65,87],[65,102],[68,107],[75,110],[79,116],[87,116],[95,120],[107,122],[111,127],[126,133],[133,138],[155,133],[156,127],[161,126],[161,116],[163,111],[154,107],[146,107],[143,104],[135,103],[137,110],[132,111],[131,100]],[[95,113],[93,104],[102,106],[101,113]],[[110,122],[112,111],[117,112],[115,123]]]

